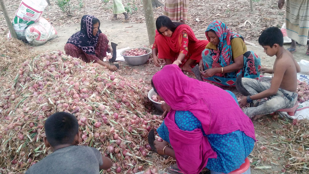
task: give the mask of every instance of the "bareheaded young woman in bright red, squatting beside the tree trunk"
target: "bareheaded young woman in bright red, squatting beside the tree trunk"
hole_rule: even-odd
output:
[[[156,28],[152,46],[155,66],[160,67],[159,59],[165,59],[167,65],[173,63],[191,72],[191,66],[199,63],[209,41],[198,40],[188,25],[172,22],[167,16],[158,17]]]

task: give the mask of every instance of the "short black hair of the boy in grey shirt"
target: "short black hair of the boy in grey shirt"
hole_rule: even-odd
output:
[[[78,134],[78,121],[67,112],[56,112],[45,121],[45,135],[50,146],[72,144]]]

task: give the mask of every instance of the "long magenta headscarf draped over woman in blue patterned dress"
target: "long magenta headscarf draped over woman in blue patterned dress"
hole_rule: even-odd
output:
[[[152,80],[158,94],[171,107],[164,122],[177,165],[184,173],[201,172],[208,158],[217,158],[217,154],[201,129],[183,131],[178,128],[175,111],[192,112],[201,121],[205,134],[227,134],[240,130],[256,140],[252,121],[223,89],[189,78],[177,65],[164,66]]]

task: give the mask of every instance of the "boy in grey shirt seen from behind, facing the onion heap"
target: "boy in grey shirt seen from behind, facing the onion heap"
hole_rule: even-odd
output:
[[[101,169],[112,166],[111,159],[99,150],[88,146],[77,146],[80,133],[74,115],[57,112],[45,121],[43,141],[53,151],[31,166],[25,174],[99,174]]]

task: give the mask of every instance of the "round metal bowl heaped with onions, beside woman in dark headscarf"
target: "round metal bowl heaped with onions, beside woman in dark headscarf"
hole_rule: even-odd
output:
[[[123,53],[125,53],[126,50],[121,51],[120,54],[123,56],[123,58],[125,58],[125,61],[129,63],[130,65],[134,65],[134,66],[142,65],[146,63],[147,60],[149,59],[149,56],[151,54],[151,49],[146,48],[146,47],[138,47],[138,49],[146,50],[146,54],[140,55],[140,56],[125,56],[123,55]],[[127,50],[131,50],[131,48]]]

